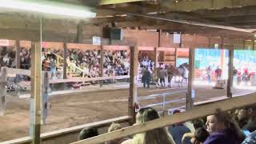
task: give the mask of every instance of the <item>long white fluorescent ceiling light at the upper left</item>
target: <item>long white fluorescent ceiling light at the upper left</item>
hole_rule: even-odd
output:
[[[86,6],[66,4],[63,2],[36,0],[0,0],[0,7],[14,10],[38,12],[40,14],[54,14],[75,18],[94,18],[96,14]]]

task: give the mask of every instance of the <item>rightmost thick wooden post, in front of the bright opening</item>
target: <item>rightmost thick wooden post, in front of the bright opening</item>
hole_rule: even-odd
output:
[[[229,50],[229,76],[227,79],[226,95],[232,98],[232,88],[233,88],[233,67],[234,67],[234,46]]]

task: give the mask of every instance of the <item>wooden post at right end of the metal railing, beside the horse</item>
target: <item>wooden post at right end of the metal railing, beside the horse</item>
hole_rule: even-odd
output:
[[[190,48],[190,55],[189,55],[189,83],[187,86],[187,95],[186,95],[186,110],[190,110],[194,106],[194,47]]]

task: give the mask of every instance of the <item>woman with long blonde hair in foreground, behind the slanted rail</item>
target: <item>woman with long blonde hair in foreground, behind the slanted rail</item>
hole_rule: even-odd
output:
[[[152,108],[141,109],[136,115],[136,124],[148,122],[157,118],[160,118],[160,116],[156,110]],[[175,143],[174,139],[171,137],[165,127],[149,130],[140,134],[135,134],[133,140],[135,144]]]

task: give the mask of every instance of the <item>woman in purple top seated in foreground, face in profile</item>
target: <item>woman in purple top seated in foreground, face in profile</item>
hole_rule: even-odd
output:
[[[235,128],[234,123],[230,122],[230,119],[229,114],[220,112],[220,110],[214,115],[209,115],[207,117],[206,130],[210,133],[210,136],[203,143],[238,143],[240,141],[238,130]]]

